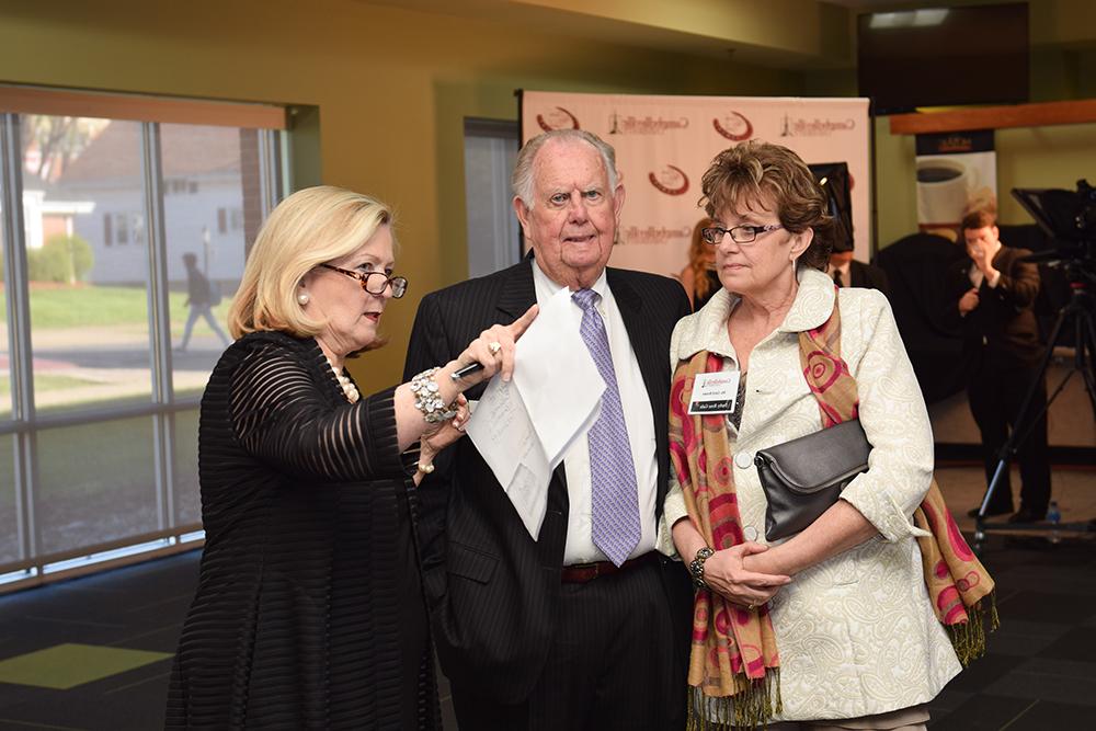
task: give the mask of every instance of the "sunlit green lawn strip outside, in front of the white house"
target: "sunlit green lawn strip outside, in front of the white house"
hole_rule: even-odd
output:
[[[186,321],[185,292],[168,295],[173,324]],[[231,300],[214,308],[214,317],[224,322]],[[7,302],[0,298],[0,321],[7,321]],[[95,285],[37,285],[31,283],[31,324],[33,328],[80,328],[118,324],[144,324],[148,321],[148,294],[144,287],[102,287]]]

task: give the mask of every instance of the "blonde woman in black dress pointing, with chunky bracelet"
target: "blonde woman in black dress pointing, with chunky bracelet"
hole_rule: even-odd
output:
[[[414,486],[461,436],[460,392],[513,370],[535,308],[456,359],[362,396],[383,344],[392,215],[350,191],[286,198],[251,250],[236,343],[202,400],[205,552],[171,676],[169,728],[439,729]],[[460,380],[458,368],[483,368]],[[418,448],[415,448],[418,447]]]

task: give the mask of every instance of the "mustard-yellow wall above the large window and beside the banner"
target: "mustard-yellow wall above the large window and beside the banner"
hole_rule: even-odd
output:
[[[397,380],[419,297],[467,272],[463,122],[516,119],[518,88],[795,94],[798,75],[353,0],[9,0],[0,81],[315,105],[326,183],[392,203],[411,294],[355,366]],[[313,121],[315,122],[315,121]]]

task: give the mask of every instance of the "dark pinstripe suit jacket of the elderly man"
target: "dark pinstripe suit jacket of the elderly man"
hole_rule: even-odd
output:
[[[536,302],[532,266],[527,259],[424,297],[404,377],[447,363],[488,327],[521,317]],[[614,269],[606,271],[606,277],[654,413],[661,515],[670,470],[666,353],[674,324],[689,311],[688,300],[681,285],[666,277]],[[482,390],[481,385],[466,396],[476,399]],[[539,540],[534,541],[470,439],[446,449],[434,465],[435,471],[419,489],[419,536],[442,667],[455,684],[479,695],[520,703],[540,676],[558,614],[568,513],[563,466],[552,476],[547,514]],[[662,560],[663,584],[675,617],[675,626],[665,631],[681,637],[684,667],[692,589],[681,563]]]

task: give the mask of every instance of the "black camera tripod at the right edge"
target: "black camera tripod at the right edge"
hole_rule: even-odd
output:
[[[985,522],[985,511],[990,506],[993,493],[996,491],[1002,478],[1006,473],[1005,470],[1008,469],[1009,460],[1016,455],[1020,444],[1024,443],[1024,439],[1027,438],[1031,430],[1039,423],[1042,415],[1050,409],[1050,404],[1054,402],[1054,399],[1057,399],[1062,392],[1062,389],[1065,388],[1065,385],[1070,381],[1073,375],[1078,372],[1081,373],[1082,380],[1084,381],[1085,391],[1088,393],[1088,401],[1093,409],[1093,416],[1096,418],[1096,297],[1093,295],[1093,286],[1096,285],[1096,275],[1088,272],[1081,262],[1065,262],[1063,266],[1065,271],[1065,279],[1069,283],[1071,290],[1070,301],[1058,313],[1058,319],[1054,321],[1054,327],[1051,330],[1050,340],[1047,344],[1047,352],[1043,354],[1042,362],[1039,364],[1038,374],[1028,385],[1027,393],[1021,402],[1013,430],[1008,435],[1008,439],[1005,442],[1004,446],[1001,447],[1001,452],[997,454],[997,467],[993,472],[993,479],[990,480],[989,489],[985,491],[985,496],[982,499],[982,504],[978,510],[978,516],[974,519],[975,550],[981,548],[982,542],[985,540],[986,533],[990,530],[1001,530],[1007,528],[1023,530],[1064,529],[1083,532],[1096,529],[1094,522],[1068,523],[1061,525],[1049,525],[1046,523]],[[1042,409],[1038,413],[1028,416],[1028,411],[1031,408],[1035,396],[1047,376],[1047,369],[1054,355],[1054,346],[1058,345],[1059,341],[1065,335],[1066,332],[1069,332],[1069,330],[1066,330],[1068,325],[1071,325],[1073,331],[1073,364],[1071,365],[1069,373],[1065,374],[1062,381],[1058,385],[1058,388],[1055,388],[1047,398],[1047,402]]]

